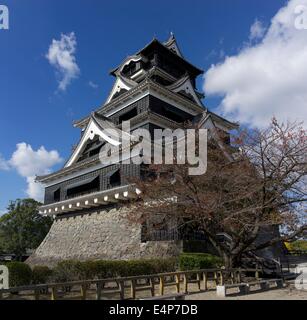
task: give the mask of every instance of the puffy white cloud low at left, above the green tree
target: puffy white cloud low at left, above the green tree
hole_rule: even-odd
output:
[[[9,160],[9,165],[26,178],[29,197],[41,201],[43,198],[43,188],[35,182],[36,175],[45,175],[50,173],[50,169],[62,162],[62,158],[55,150],[47,151],[44,147],[33,150],[31,145],[25,142],[17,144],[16,151]]]

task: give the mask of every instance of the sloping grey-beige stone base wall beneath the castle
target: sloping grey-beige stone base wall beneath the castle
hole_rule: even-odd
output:
[[[141,226],[126,218],[127,208],[57,218],[46,238],[30,256],[30,265],[53,266],[58,261],[129,260],[179,255],[180,242],[141,242]]]

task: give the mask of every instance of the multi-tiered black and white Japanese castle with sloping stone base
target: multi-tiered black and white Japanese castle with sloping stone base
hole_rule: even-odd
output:
[[[131,132],[137,128],[150,133],[158,128],[176,129],[190,120],[200,122],[209,132],[222,130],[229,137],[237,124],[203,105],[204,96],[196,89],[202,73],[184,58],[173,34],[166,42],[152,40],[111,71],[114,85],[105,103],[74,122],[81,137],[64,167],[37,177],[45,186],[40,213],[52,216],[54,222],[29,264],[166,258],[186,250],[180,234],[172,238],[156,233],[156,237],[144,238],[142,225],[125,218],[129,210],[125,201],[137,199],[141,193],[130,178],[142,177],[144,165],[105,165],[99,154],[106,143],[115,143],[105,130],[121,132],[126,120],[130,120]],[[272,255],[274,250],[270,249]]]

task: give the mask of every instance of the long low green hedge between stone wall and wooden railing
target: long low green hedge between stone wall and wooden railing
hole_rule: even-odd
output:
[[[179,257],[180,270],[217,268],[222,265],[219,257],[198,253],[185,253]],[[10,262],[10,287],[69,282],[116,277],[139,276],[176,271],[177,259],[97,260],[59,262],[53,269],[35,266],[33,270],[23,262]]]

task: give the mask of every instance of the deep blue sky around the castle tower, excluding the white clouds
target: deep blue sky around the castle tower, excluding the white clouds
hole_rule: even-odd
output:
[[[154,36],[166,40],[174,32],[184,56],[207,71],[211,65],[223,63],[226,56],[240,55],[244,46],[256,46],[250,42],[251,26],[260,21],[264,30],[269,28],[272,17],[285,3],[2,0],[10,14],[9,30],[0,30],[2,162],[12,158],[18,143],[31,145],[34,152],[44,146],[45,151],[56,150],[67,158],[80,135],[72,121],[104,102],[113,83],[109,70]],[[46,54],[53,39],[70,32],[75,34],[74,57],[80,73],[65,90],[59,90],[56,70]],[[263,36],[254,40],[262,41]],[[224,70],[212,69],[211,78],[220,71],[223,74]],[[218,112],[222,110],[220,93],[228,92],[228,88],[217,88],[212,82],[208,84],[212,95],[205,104]],[[199,79],[198,87],[202,89],[203,79]],[[2,169],[0,212],[9,200],[27,196],[27,174],[10,164],[7,168],[2,165]]]

